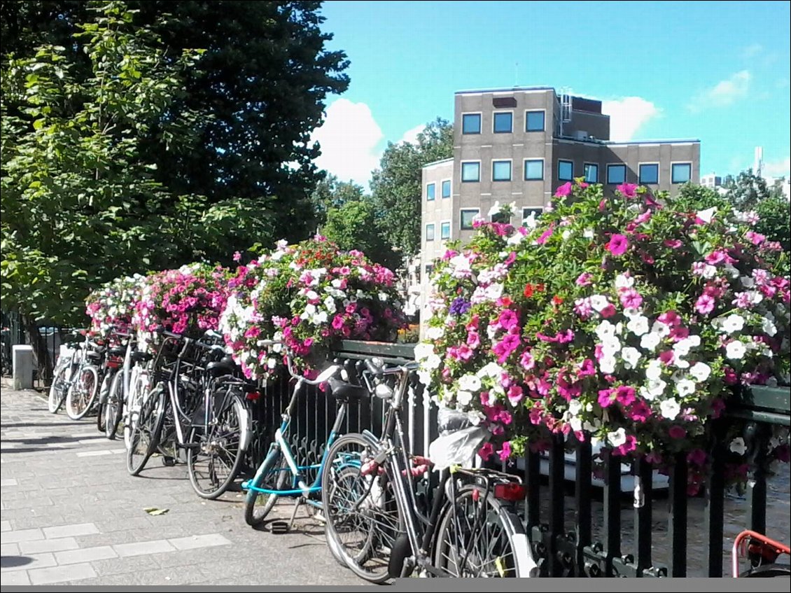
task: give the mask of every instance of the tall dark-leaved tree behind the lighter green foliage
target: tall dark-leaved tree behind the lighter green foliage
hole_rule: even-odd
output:
[[[4,53],[34,55],[45,43],[62,46],[80,83],[89,76],[84,39],[74,39],[89,20],[91,2],[38,0],[0,6]],[[165,61],[185,49],[203,48],[202,60],[184,73],[184,90],[161,121],[193,113],[189,151],[172,150],[173,138],[157,125],[141,136],[153,179],[177,195],[206,196],[206,205],[266,198],[275,228],[289,239],[308,229],[304,213],[320,179],[313,161],[320,146],[309,142],[322,123],[324,99],[343,93],[349,78],[343,51],[327,51],[320,2],[127,2],[135,24],[163,44]],[[87,67],[86,67],[87,66]],[[65,106],[66,109],[77,105]],[[210,116],[210,117],[209,117]],[[238,202],[237,202],[238,203]],[[274,237],[259,237],[263,242]],[[279,237],[278,237],[279,238]]]

